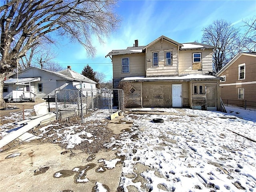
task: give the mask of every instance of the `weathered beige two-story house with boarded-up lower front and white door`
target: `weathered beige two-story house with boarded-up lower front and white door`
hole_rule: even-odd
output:
[[[147,46],[112,50],[113,84],[132,82],[126,107],[220,109],[220,78],[212,73],[214,46],[160,36]],[[106,56],[106,57],[107,57]]]

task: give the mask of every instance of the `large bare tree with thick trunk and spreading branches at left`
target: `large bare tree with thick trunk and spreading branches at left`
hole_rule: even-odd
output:
[[[4,106],[4,77],[41,38],[67,36],[94,55],[91,36],[102,42],[119,22],[113,12],[115,0],[6,0],[0,7],[0,106]]]

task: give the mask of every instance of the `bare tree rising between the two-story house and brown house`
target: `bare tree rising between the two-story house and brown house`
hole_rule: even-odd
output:
[[[202,31],[202,43],[218,47],[213,53],[213,67],[216,73],[237,53],[234,52],[234,47],[240,42],[239,29],[226,20],[215,20]]]

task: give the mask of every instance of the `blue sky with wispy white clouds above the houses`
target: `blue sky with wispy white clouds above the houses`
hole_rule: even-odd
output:
[[[94,71],[104,72],[105,81],[112,79],[112,63],[105,56],[115,49],[133,46],[138,39],[139,46],[147,45],[161,35],[179,43],[201,42],[202,28],[214,20],[224,19],[234,26],[242,26],[242,19],[256,15],[255,0],[124,0],[119,1],[115,11],[122,19],[120,28],[100,44],[93,38],[96,56],[90,58],[82,45],[68,41],[58,46],[56,61],[66,68],[81,73],[89,64]]]

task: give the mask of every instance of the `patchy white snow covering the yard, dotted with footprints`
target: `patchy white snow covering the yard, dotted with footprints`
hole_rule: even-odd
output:
[[[125,156],[120,182],[124,191],[256,191],[255,110],[228,107],[229,114],[159,110],[170,115],[127,114],[123,120],[134,122],[131,131],[106,144],[117,150],[118,156]],[[16,120],[17,116],[14,114]],[[106,115],[99,112],[94,120],[100,125],[104,118]],[[154,123],[153,118],[164,122]],[[75,128],[70,127],[70,131]],[[45,130],[42,128],[42,132]],[[81,133],[74,134],[77,136],[70,136],[70,141],[66,135],[63,140],[72,143],[70,148],[80,142]],[[84,131],[83,135],[85,142],[92,142],[94,132]],[[114,168],[114,164],[111,166]]]

